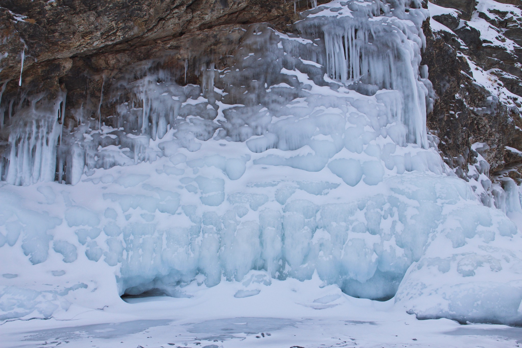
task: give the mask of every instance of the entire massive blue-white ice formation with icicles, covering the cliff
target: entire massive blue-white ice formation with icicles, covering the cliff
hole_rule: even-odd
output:
[[[417,1],[335,0],[299,34],[234,29],[223,67],[197,61],[200,85],[160,59],[103,76],[109,100],[73,123],[65,93],[9,106],[0,320],[264,270],[397,293],[421,318],[520,323],[520,234],[504,213],[522,213],[518,187],[492,189],[479,161],[473,191],[426,133],[427,18]],[[104,124],[102,103],[115,105]]]

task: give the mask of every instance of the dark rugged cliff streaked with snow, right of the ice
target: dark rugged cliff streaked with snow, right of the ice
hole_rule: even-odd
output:
[[[507,51],[502,46],[492,45],[477,29],[462,20],[470,19],[475,11],[499,32],[499,41],[509,39],[522,44],[522,37],[518,35],[521,19],[504,10],[493,9],[489,14],[487,10],[478,11],[474,0],[437,0],[434,3],[460,10],[458,17],[437,15],[432,19],[453,32],[432,32],[428,25],[424,30],[426,50],[422,64],[429,66],[429,78],[438,97],[427,122],[428,128],[440,137],[441,155],[459,176],[465,178],[468,164],[476,163],[477,153],[471,150],[471,145],[483,142],[489,146],[483,155],[491,165],[492,178],[504,168],[516,169],[520,158],[505,147],[522,147],[522,120],[518,111],[518,96],[522,95],[522,54],[518,49]],[[488,90],[481,81],[473,79],[473,69],[485,71],[491,86],[497,86],[499,90],[505,87],[507,93],[513,94],[506,97],[504,93],[499,99],[499,91]],[[502,102],[502,98],[512,105]],[[520,178],[516,171],[512,174]]]

